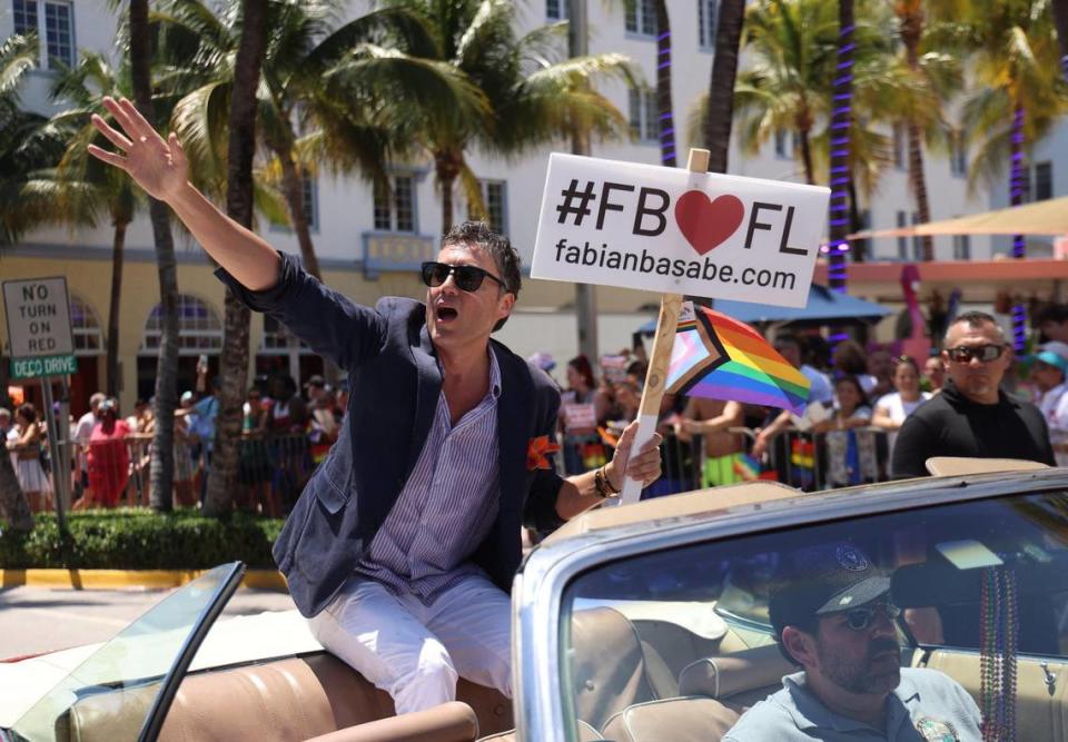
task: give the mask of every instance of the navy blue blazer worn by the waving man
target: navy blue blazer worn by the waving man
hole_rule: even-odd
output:
[[[442,374],[426,307],[398,297],[374,309],[354,304],[283,255],[278,284],[249,291],[216,275],[249,308],[270,314],[316,353],[348,372],[337,443],[308,482],[275,543],[274,557],[305,616],[325,609],[366,553],[429,434]],[[497,399],[501,507],[472,560],[505,592],[522,557],[521,526],[557,527],[561,477],[528,469],[530,442],[554,435],[560,392],[552,379],[491,340],[501,368]]]

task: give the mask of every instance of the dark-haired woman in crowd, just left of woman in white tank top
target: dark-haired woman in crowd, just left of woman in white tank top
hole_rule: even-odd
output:
[[[856,431],[871,423],[868,395],[856,376],[842,376],[834,383],[834,404],[829,412],[812,425],[813,433],[825,434],[828,484],[842,487],[874,478],[874,442],[870,435],[861,438]],[[807,416],[809,413],[805,410]]]

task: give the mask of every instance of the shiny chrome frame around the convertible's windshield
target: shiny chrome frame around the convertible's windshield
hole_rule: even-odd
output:
[[[513,585],[513,687],[520,740],[574,740],[560,687],[560,602],[581,572],[624,556],[926,506],[1068,488],[1068,468],[909,481],[592,531],[535,548]],[[714,495],[713,495],[714,496]]]

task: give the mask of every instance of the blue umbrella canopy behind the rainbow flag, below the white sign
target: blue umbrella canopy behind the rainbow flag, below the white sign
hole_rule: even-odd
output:
[[[716,311],[722,311],[746,325],[759,323],[789,323],[805,326],[873,324],[892,314],[891,309],[879,304],[858,299],[848,294],[839,294],[819,284],[812,285],[809,300],[802,308],[772,307],[765,304],[725,299],[718,299],[713,306]],[[643,335],[655,334],[656,320],[651,319],[642,325],[640,330]]]

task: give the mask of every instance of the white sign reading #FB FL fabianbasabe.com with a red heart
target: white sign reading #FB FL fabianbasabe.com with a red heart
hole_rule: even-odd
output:
[[[830,190],[554,152],[531,276],[803,307]]]

